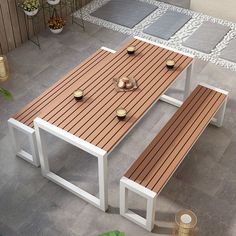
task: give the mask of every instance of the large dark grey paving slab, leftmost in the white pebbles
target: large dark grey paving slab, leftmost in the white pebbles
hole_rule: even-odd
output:
[[[91,15],[133,28],[157,7],[137,0],[111,0]]]

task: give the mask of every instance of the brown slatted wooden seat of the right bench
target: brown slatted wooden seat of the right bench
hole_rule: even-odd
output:
[[[222,93],[198,86],[125,176],[160,192],[225,98]]]

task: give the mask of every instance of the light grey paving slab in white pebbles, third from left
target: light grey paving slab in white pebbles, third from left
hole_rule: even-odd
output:
[[[229,30],[230,28],[227,26],[212,22],[203,22],[202,25],[183,42],[183,45],[209,54]]]

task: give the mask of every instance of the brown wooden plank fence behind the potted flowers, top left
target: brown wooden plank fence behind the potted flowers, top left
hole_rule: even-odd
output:
[[[41,5],[45,1],[40,0]],[[80,5],[84,6],[91,0],[80,1]],[[32,22],[28,22],[25,14],[17,7],[18,2],[22,2],[22,0],[0,0],[0,53],[5,54],[28,40],[27,24],[29,24],[29,35],[33,34]],[[64,8],[61,5],[57,8],[64,18],[71,13],[69,8]],[[36,33],[47,27],[49,17],[47,10],[42,9],[38,13],[39,24],[35,27]]]

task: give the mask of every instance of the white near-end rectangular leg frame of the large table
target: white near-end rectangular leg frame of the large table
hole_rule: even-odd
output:
[[[54,183],[60,185],[64,189],[70,191],[76,196],[82,198],[83,200],[89,202],[90,204],[98,207],[99,209],[106,211],[108,208],[108,189],[107,189],[107,153],[106,151],[81,140],[78,137],[62,130],[48,122],[36,118],[34,120],[36,139],[39,149],[39,158],[42,168],[42,174],[47,179],[53,181]],[[93,196],[92,194],[84,191],[83,189],[77,187],[76,185],[70,183],[69,181],[63,179],[62,177],[56,175],[50,171],[50,166],[47,156],[47,143],[44,138],[45,132],[48,132],[88,153],[98,158],[98,177],[99,177],[99,198]]]

